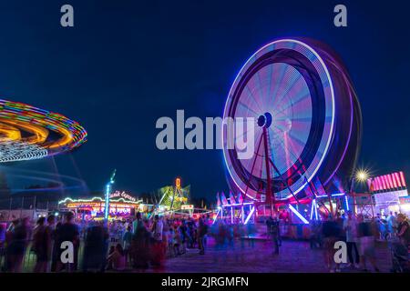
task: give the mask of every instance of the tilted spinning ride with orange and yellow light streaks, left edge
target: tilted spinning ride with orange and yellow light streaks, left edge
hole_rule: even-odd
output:
[[[54,156],[86,140],[86,130],[64,115],[0,99],[0,163]]]

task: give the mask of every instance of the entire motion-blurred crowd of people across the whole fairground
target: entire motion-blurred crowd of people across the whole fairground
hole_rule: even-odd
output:
[[[272,254],[278,256],[282,246],[282,220],[268,217],[267,236],[272,240]],[[379,271],[375,256],[375,241],[386,240],[392,251],[395,272],[408,271],[410,227],[403,214],[375,216],[369,219],[361,214],[354,216],[327,216],[310,223],[310,246],[323,249],[324,263],[330,272],[340,272],[341,264],[334,260],[335,243],[347,246],[349,268],[367,271],[368,264]],[[0,225],[0,249],[4,250],[6,272],[21,272],[24,257],[35,254],[34,272],[66,271],[122,271],[132,268],[161,267],[166,259],[181,256],[187,250],[204,255],[207,238],[212,237],[216,249],[235,249],[236,242],[244,248],[254,247],[251,236],[257,233],[254,224],[231,224],[219,220],[213,223],[210,216],[199,219],[166,216],[143,216],[111,221],[75,221],[68,213],[64,218],[40,217],[36,226],[28,218],[16,219],[5,229]],[[246,238],[248,238],[246,240]],[[251,238],[251,239],[250,239]],[[63,264],[63,242],[73,246],[74,260]],[[80,251],[81,250],[81,251]],[[79,264],[78,262],[81,262]]]

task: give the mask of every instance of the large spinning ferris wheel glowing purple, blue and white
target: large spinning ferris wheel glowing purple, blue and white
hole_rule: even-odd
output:
[[[299,201],[313,181],[333,191],[341,187],[334,178],[353,171],[360,106],[340,60],[314,41],[281,39],[251,55],[231,86],[223,117],[253,120],[251,158],[239,158],[223,129],[231,185],[253,200]]]

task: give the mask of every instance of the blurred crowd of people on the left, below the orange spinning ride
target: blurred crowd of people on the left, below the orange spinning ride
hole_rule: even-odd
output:
[[[4,234],[5,263],[3,271],[21,272],[27,248],[36,255],[34,272],[121,271],[130,268],[160,267],[164,259],[198,249],[205,254],[206,236],[211,224],[209,216],[198,220],[163,216],[143,217],[137,213],[132,219],[75,222],[68,213],[64,219],[56,216],[40,217],[36,226],[28,218],[16,219]],[[65,250],[63,242],[71,242],[74,261],[61,263]],[[80,254],[80,245],[82,252]],[[1,246],[0,246],[1,247]],[[82,264],[78,261],[81,256]]]

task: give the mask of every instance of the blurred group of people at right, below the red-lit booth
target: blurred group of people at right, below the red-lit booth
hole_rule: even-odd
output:
[[[387,227],[386,227],[387,226]],[[393,214],[381,221],[380,215],[368,218],[354,216],[328,216],[323,221],[311,223],[311,248],[323,248],[325,265],[331,272],[340,272],[341,265],[334,261],[334,244],[343,241],[347,246],[348,267],[367,271],[367,263],[379,272],[375,256],[375,242],[382,239],[389,243],[392,252],[393,272],[408,272],[410,229],[404,214]]]

